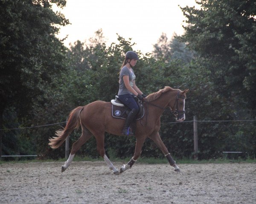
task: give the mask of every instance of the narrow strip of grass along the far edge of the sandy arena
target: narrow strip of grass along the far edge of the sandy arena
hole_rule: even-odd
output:
[[[122,162],[122,163],[127,163],[130,161],[131,158],[125,158],[125,159],[120,159],[120,158],[110,158],[112,162]],[[4,163],[10,163],[10,164],[15,164],[15,163],[29,163],[29,162],[53,162],[53,161],[59,161],[59,162],[65,162],[67,159],[58,159],[58,160],[53,160],[53,159],[47,159],[47,160],[38,160],[38,159],[33,159],[33,160],[15,160],[15,161],[3,161],[0,159],[0,164]],[[75,156],[73,161],[104,161],[102,158],[98,159],[92,159],[90,157],[81,157],[81,156]],[[222,164],[222,163],[256,163],[256,159],[224,159],[224,158],[219,158],[219,159],[209,159],[209,160],[194,160],[194,159],[176,159],[177,164],[209,164],[209,163],[216,163],[216,164]],[[137,163],[142,163],[142,164],[168,164],[168,161],[166,158],[144,158],[140,157],[137,161]]]

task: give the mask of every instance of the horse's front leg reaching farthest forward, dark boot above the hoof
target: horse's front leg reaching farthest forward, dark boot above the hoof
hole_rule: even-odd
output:
[[[149,136],[150,139],[152,139],[156,144],[157,147],[160,148],[160,150],[164,153],[164,156],[166,157],[166,159],[169,161],[169,164],[174,167],[174,170],[176,172],[180,172],[180,168],[177,166],[176,162],[174,161],[174,159],[172,158],[171,154],[168,152],[165,144],[163,144],[162,139],[160,138],[160,135],[158,132],[156,133],[152,133]]]

